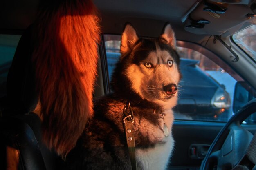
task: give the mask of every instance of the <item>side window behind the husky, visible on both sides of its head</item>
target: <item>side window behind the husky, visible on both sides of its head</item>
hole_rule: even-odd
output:
[[[113,68],[120,56],[120,36],[104,35],[104,39],[111,81]],[[238,84],[244,82],[243,79],[213,53],[206,49],[206,54],[211,55],[198,52],[203,47],[197,46],[199,50],[196,51],[179,44],[184,43],[177,42],[182,79],[178,103],[173,108],[175,119],[226,122],[246,103],[236,102],[233,106],[235,88],[237,86],[239,91]]]

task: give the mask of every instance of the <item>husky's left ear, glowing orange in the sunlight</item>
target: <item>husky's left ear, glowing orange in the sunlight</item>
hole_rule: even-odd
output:
[[[131,24],[126,24],[121,36],[121,54],[128,53],[132,50],[139,37]]]

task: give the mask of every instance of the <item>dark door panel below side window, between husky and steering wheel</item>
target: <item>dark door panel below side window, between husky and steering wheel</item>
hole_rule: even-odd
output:
[[[225,123],[217,122],[176,120],[173,124],[175,147],[168,169],[196,170],[196,168],[199,168],[202,159],[194,159],[191,157],[191,145],[211,145],[224,125]]]

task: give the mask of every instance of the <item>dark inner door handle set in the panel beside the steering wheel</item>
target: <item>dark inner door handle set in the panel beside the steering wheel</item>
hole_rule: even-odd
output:
[[[191,144],[189,146],[189,157],[192,159],[203,159],[210,146],[208,144]]]

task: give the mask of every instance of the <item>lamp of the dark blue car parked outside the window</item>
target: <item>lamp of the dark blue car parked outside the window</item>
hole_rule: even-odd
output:
[[[218,88],[215,92],[211,104],[216,108],[229,108],[230,107],[230,97],[224,89]]]

